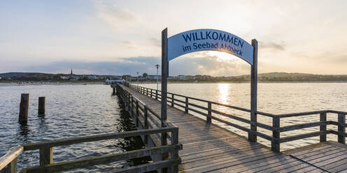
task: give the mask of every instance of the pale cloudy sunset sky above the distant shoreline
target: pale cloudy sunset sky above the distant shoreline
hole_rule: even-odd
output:
[[[155,74],[161,31],[219,29],[259,43],[258,73],[347,74],[347,1],[3,0],[0,73]],[[223,52],[170,61],[169,75],[250,74]]]

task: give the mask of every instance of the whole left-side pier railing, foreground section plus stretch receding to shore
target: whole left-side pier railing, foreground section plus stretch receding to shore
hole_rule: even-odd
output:
[[[178,143],[178,128],[171,123],[161,122],[160,116],[127,91],[118,87],[118,92],[122,93],[120,96],[124,100],[138,130],[22,144],[11,149],[0,158],[0,172],[17,172],[17,156],[24,151],[31,150],[39,150],[40,165],[23,168],[20,172],[59,172],[144,156],[154,156],[153,163],[126,167],[114,172],[149,172],[153,170],[178,172],[178,164],[180,163],[178,151],[182,149],[182,145]],[[146,149],[53,163],[53,147],[55,146],[136,136],[140,136],[143,139]]]

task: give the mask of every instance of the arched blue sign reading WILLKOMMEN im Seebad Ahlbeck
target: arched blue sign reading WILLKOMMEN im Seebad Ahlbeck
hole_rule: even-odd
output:
[[[216,29],[195,29],[168,38],[168,61],[203,50],[227,52],[253,65],[253,46],[232,33]]]

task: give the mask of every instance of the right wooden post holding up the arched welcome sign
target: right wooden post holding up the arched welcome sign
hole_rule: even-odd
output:
[[[252,133],[257,131],[257,40],[252,40],[252,46],[253,65],[250,69],[250,132],[248,133],[248,140],[252,142],[257,142],[257,135],[255,133]]]

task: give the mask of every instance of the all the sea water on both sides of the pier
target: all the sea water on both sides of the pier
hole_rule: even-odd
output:
[[[142,84],[143,87],[156,88],[156,84]],[[250,107],[250,84],[169,84],[168,91],[194,98],[212,100],[218,103],[238,107]],[[20,93],[30,93],[29,122],[27,126],[17,123]],[[45,116],[37,115],[38,97],[46,97]],[[134,124],[129,115],[122,109],[118,96],[111,96],[108,85],[36,85],[20,87],[0,87],[0,156],[11,147],[28,142],[43,142],[66,137],[117,133],[133,130]],[[258,84],[258,110],[272,114],[306,112],[313,110],[339,110],[347,112],[346,83],[260,83]],[[197,102],[197,104],[201,104]],[[205,105],[206,106],[206,105]],[[249,113],[213,106],[213,109],[249,119]],[[168,115],[170,116],[170,115]],[[328,119],[337,120],[336,114],[328,114]],[[222,119],[241,126],[248,124],[233,121],[224,116]],[[258,121],[271,125],[272,120],[258,116]],[[281,126],[319,121],[318,115],[300,116],[299,118],[281,119]],[[217,122],[214,122],[217,123]],[[246,136],[241,130],[220,124],[235,133]],[[328,126],[328,128],[334,128]],[[269,130],[258,128],[271,135]],[[307,133],[319,128],[281,133],[281,137]],[[335,135],[327,135],[328,140],[337,140]],[[258,138],[259,142],[270,146],[270,142]],[[298,146],[316,143],[318,137],[297,140],[281,144],[281,149],[292,149]],[[101,156],[107,153],[118,153],[143,147],[141,140],[106,140],[85,142],[70,146],[54,148],[54,161],[73,160],[88,156]],[[117,164],[99,165],[73,172],[97,172],[112,170],[113,167],[127,167],[146,159],[128,160]],[[38,165],[38,151],[25,151],[18,159],[18,167]]]

